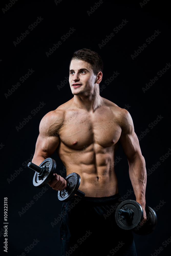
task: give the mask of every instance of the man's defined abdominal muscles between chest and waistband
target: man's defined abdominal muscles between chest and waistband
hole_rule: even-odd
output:
[[[74,142],[75,143],[75,142]],[[89,197],[104,197],[118,193],[114,171],[114,146],[92,143],[80,150],[60,145],[58,154],[67,175],[76,172],[81,177],[79,189]]]

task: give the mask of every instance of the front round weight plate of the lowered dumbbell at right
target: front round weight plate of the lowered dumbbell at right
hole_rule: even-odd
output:
[[[123,209],[131,209],[133,210],[133,215],[131,219],[125,219],[122,214],[118,213],[118,210]],[[117,225],[125,230],[131,230],[135,228],[140,221],[143,219],[143,209],[141,205],[134,201],[134,200],[125,200],[121,202],[121,204],[117,207],[116,212],[115,212],[115,220]]]

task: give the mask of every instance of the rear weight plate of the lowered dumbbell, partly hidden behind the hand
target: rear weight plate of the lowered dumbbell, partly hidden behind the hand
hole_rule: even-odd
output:
[[[134,233],[141,236],[150,234],[157,225],[157,216],[155,211],[149,206],[145,207],[145,211],[146,211],[147,220],[144,223],[144,225],[142,226],[138,225],[136,228],[132,230],[134,231]]]

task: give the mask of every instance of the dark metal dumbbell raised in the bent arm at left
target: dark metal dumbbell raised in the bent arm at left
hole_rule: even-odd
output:
[[[28,167],[35,171],[33,177],[33,185],[38,188],[45,186],[50,180],[54,178],[56,170],[56,162],[52,158],[46,158],[39,166],[33,163],[28,163]],[[84,197],[85,193],[79,190],[80,175],[77,173],[70,173],[66,178],[67,187],[62,191],[58,191],[58,199],[66,202],[74,195]]]

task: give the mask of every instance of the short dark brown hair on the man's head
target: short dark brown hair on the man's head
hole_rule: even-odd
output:
[[[86,48],[75,51],[72,56],[71,61],[73,59],[83,60],[83,61],[90,63],[93,73],[95,75],[100,71],[103,72],[103,61],[102,61],[101,57],[95,51],[91,51]],[[69,63],[69,67],[71,65],[71,61]]]

